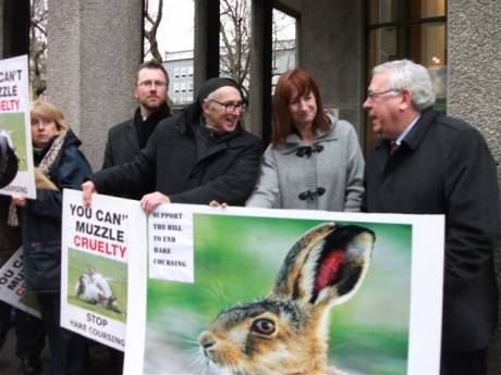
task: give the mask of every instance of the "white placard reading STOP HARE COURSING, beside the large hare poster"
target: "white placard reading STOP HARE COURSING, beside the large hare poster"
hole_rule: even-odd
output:
[[[127,321],[127,261],[146,252],[146,215],[137,201],[95,195],[84,208],[82,192],[64,190],[61,325],[124,350]]]

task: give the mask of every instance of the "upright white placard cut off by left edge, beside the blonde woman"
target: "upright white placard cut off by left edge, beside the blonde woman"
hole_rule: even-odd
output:
[[[35,199],[27,55],[0,60],[0,134],[19,159],[15,178],[0,193]]]

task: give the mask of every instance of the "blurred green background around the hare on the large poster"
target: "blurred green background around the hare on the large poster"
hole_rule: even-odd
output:
[[[221,309],[267,296],[289,249],[326,222],[195,214],[195,283],[148,280],[146,373],[186,373]],[[350,224],[374,230],[376,243],[358,292],[331,310],[329,363],[350,374],[405,374],[412,226]]]

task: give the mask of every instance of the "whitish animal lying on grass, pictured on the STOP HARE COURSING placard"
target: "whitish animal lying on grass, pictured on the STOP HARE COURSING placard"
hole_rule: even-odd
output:
[[[118,314],[123,314],[113,296],[108,279],[97,272],[96,267],[89,266],[86,273],[83,273],[75,284],[76,298],[96,304],[100,308],[111,310]]]

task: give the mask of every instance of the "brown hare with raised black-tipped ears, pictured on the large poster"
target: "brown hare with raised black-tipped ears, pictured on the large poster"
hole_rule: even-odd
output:
[[[376,235],[321,224],[286,253],[265,298],[223,309],[198,337],[207,374],[345,374],[328,365],[330,309],[346,302],[369,268]]]

